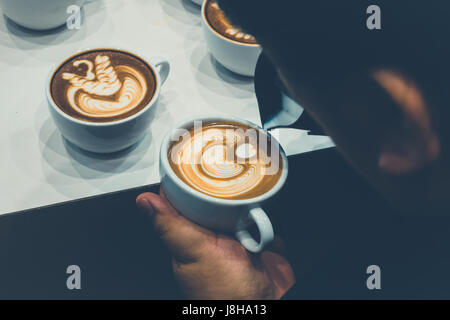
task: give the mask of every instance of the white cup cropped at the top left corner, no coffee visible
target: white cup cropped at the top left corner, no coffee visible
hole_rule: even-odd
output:
[[[82,7],[92,0],[0,0],[3,13],[18,25],[33,30],[49,30],[66,23],[70,6]]]

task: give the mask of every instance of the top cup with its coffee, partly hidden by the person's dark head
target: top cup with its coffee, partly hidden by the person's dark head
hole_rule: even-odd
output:
[[[202,29],[209,51],[220,64],[244,76],[255,75],[260,45],[229,22],[217,0],[203,2]]]

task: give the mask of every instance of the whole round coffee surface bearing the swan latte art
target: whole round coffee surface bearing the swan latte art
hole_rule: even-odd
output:
[[[50,84],[55,104],[89,122],[111,122],[145,108],[156,91],[152,68],[141,58],[116,49],[95,49],[64,61]]]

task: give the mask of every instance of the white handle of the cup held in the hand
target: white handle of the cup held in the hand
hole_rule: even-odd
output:
[[[236,238],[248,251],[254,253],[261,252],[267,244],[273,241],[274,233],[272,223],[261,208],[250,209],[245,220],[253,221],[258,227],[260,234],[259,243],[253,238],[250,232],[248,232],[248,223],[242,223],[241,226],[238,226]]]

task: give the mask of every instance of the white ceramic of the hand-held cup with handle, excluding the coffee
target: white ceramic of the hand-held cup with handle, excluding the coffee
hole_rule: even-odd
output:
[[[263,131],[265,135],[270,137],[270,133],[257,125],[232,117],[195,119],[177,125],[167,133],[161,144],[159,169],[164,193],[174,208],[191,221],[208,229],[232,233],[248,251],[260,252],[274,238],[272,224],[261,205],[274,196],[284,185],[288,174],[286,155],[278,142],[272,138],[272,143],[276,143],[277,150],[280,152],[282,171],[275,185],[262,195],[250,199],[234,200],[204,194],[180,179],[169,161],[169,150],[174,141],[177,141],[180,137],[180,130],[186,132],[193,128],[198,121],[205,124],[218,121],[240,123],[256,129],[258,132]],[[252,225],[256,225],[259,231],[259,240],[256,240],[249,232],[249,227]]]

